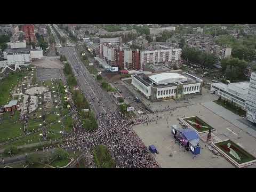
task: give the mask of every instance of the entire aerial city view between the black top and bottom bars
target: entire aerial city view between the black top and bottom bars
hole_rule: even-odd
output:
[[[255,24],[0,24],[0,168],[255,168]]]

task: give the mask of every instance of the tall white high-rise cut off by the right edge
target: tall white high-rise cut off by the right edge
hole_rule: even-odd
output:
[[[247,120],[256,123],[256,72],[251,73],[249,90],[245,101]]]

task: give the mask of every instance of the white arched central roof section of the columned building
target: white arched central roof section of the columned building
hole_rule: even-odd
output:
[[[156,75],[150,75],[149,79],[152,82],[155,82],[157,85],[188,81],[187,77],[180,75],[178,73],[161,73]]]

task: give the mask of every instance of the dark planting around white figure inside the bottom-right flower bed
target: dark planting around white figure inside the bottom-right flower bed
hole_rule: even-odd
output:
[[[228,143],[231,144],[230,148],[235,151],[235,153],[239,156],[240,159],[235,158],[233,155],[230,154],[230,149],[228,148]],[[217,147],[219,147],[223,152],[225,152],[229,157],[234,159],[239,164],[246,163],[249,161],[253,161],[256,158],[253,157],[251,154],[247,153],[243,148],[239,147],[234,143],[233,141],[227,140],[227,141],[222,141],[219,143],[215,143]]]

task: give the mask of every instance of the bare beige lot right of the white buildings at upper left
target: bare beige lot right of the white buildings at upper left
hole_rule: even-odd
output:
[[[40,68],[60,69],[64,68],[59,59],[44,58],[33,62],[33,65]]]

